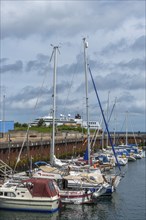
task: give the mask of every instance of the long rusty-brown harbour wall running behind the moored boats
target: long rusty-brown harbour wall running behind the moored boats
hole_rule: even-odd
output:
[[[112,140],[114,136],[111,134]],[[94,142],[95,137],[91,135],[91,141]],[[95,145],[92,147],[92,151],[100,149],[102,146],[107,146],[107,137],[104,135],[98,135],[95,140]],[[116,137],[116,143],[124,144],[125,135],[121,134]],[[146,141],[145,135],[133,135],[128,134],[128,143],[141,144]],[[109,144],[109,143],[108,143]],[[110,144],[109,144],[110,145]],[[91,144],[92,146],[92,144]],[[29,132],[26,136],[26,132],[11,132],[5,134],[3,138],[0,138],[0,159],[7,163],[9,166],[14,167],[18,156],[20,155],[19,166],[29,165],[30,158],[33,162],[38,160],[50,160],[50,147],[51,147],[51,135],[38,132]],[[55,136],[55,155],[57,158],[71,158],[78,155],[83,155],[87,147],[87,137],[81,133],[59,133]]]

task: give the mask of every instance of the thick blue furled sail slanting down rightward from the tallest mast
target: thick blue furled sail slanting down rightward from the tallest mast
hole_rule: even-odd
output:
[[[97,93],[97,89],[96,89],[96,86],[95,86],[95,82],[94,82],[94,79],[93,79],[93,76],[92,76],[89,64],[88,64],[88,69],[89,69],[89,73],[90,73],[90,76],[91,76],[91,79],[92,79],[92,83],[93,83],[93,87],[94,87],[94,90],[95,90],[95,93],[96,93],[96,97],[98,99],[98,103],[99,103],[100,110],[101,110],[101,113],[102,113],[102,117],[103,117],[103,120],[104,120],[104,123],[105,123],[105,127],[106,127],[106,130],[107,130],[107,133],[108,133],[109,141],[110,141],[110,144],[112,146],[112,150],[113,150],[114,156],[116,158],[116,162],[118,164],[118,168],[121,171],[121,167],[120,167],[120,164],[119,164],[117,156],[116,156],[116,152],[115,152],[115,149],[114,149],[114,146],[113,146],[113,143],[112,143],[112,139],[111,139],[111,136],[110,136],[110,133],[109,133],[109,130],[108,130],[108,125],[107,125],[107,122],[106,122],[106,119],[105,119],[105,116],[104,116],[104,113],[103,113],[103,109],[102,109],[102,106],[101,106],[101,102],[100,102],[100,99],[99,99],[99,96],[98,96],[98,93]]]

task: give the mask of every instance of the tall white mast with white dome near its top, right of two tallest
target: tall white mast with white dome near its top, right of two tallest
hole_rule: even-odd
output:
[[[84,68],[85,68],[85,86],[86,86],[86,117],[87,117],[87,143],[88,143],[88,164],[90,165],[90,128],[89,128],[89,111],[88,111],[88,77],[87,77],[87,55],[86,49],[88,48],[88,43],[86,38],[83,38],[84,44]]]

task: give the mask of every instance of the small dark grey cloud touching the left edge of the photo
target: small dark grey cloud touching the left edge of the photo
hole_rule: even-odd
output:
[[[21,60],[18,60],[14,64],[1,65],[1,73],[20,72],[20,71],[22,71],[22,68],[23,68],[23,63]]]

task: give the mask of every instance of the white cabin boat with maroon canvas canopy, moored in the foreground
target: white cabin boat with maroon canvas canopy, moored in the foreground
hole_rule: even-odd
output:
[[[55,212],[60,197],[52,180],[28,179],[0,187],[0,208],[18,211]]]

